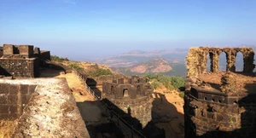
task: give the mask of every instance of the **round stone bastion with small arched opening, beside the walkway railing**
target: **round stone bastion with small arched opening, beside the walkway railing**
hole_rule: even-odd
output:
[[[151,92],[153,89],[147,80],[136,76],[127,82],[124,78],[119,78],[112,83],[103,83],[102,86],[103,98],[107,98],[132,118],[137,118],[143,128],[152,120],[152,101],[149,96]]]

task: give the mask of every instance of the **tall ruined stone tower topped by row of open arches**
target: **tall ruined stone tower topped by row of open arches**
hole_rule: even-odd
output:
[[[221,52],[227,57],[225,73],[218,72]],[[237,52],[243,55],[244,75],[234,73]],[[207,55],[211,59],[211,72],[207,72]],[[186,138],[256,137],[256,81],[255,77],[245,76],[253,72],[253,56],[251,48],[189,49],[184,96]],[[204,76],[220,83],[202,80]],[[248,83],[251,79],[254,83]]]

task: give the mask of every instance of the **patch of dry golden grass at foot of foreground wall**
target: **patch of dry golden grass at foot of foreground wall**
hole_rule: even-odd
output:
[[[15,120],[1,120],[0,121],[0,138],[9,138],[15,129]]]

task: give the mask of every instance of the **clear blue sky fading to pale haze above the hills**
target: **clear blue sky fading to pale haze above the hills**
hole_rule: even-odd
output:
[[[74,60],[256,44],[255,0],[0,0],[0,43]]]

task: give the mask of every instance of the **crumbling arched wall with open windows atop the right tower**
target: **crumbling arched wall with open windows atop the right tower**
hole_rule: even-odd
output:
[[[188,76],[196,77],[199,74],[207,72],[207,55],[211,60],[211,72],[218,72],[219,55],[225,53],[227,57],[226,71],[236,72],[236,54],[241,52],[243,55],[244,68],[243,72],[253,72],[255,65],[253,64],[254,51],[252,48],[190,48],[186,58]]]

